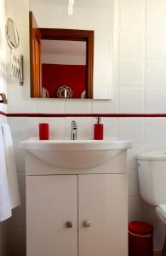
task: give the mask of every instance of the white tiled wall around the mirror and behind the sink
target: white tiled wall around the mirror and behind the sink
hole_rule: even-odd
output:
[[[112,101],[30,99],[28,1],[6,0],[7,14],[20,33],[16,53],[25,56],[25,85],[8,80],[9,113],[166,113],[166,0],[115,0],[114,84]],[[8,51],[9,58],[9,51]],[[92,137],[94,118],[76,118],[78,136]],[[9,220],[10,255],[25,253],[25,168],[20,140],[37,136],[39,122],[49,122],[52,137],[68,137],[71,118],[9,118],[20,180],[22,206]],[[129,220],[155,224],[155,247],[163,230],[152,207],[140,199],[135,156],[166,148],[165,118],[103,118],[106,137],[131,139],[128,155]],[[146,214],[145,214],[146,212]]]

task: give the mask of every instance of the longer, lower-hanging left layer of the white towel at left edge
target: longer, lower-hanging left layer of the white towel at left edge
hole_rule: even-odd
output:
[[[0,125],[0,221],[11,217],[9,182],[5,161],[3,131]]]

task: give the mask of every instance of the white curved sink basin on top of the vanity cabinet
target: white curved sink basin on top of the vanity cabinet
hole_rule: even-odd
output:
[[[122,150],[131,148],[130,141],[62,140],[40,141],[29,139],[20,142],[20,148],[49,165],[63,168],[89,168],[99,166]]]

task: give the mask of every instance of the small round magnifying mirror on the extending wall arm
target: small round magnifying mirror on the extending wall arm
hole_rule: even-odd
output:
[[[6,24],[6,40],[10,49],[16,49],[19,46],[19,34],[14,21],[10,18]]]

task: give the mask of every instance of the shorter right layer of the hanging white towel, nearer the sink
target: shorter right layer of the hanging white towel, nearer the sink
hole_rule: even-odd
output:
[[[3,142],[5,148],[5,156],[6,156],[6,166],[8,173],[8,181],[9,181],[9,195],[10,195],[10,205],[13,209],[14,207],[18,207],[20,205],[20,192],[17,180],[17,172],[14,161],[14,146],[13,140],[10,132],[10,128],[8,124],[2,124],[3,129]]]

